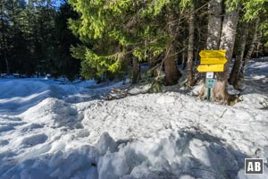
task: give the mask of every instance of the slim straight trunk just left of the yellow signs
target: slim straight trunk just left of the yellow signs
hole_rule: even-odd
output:
[[[195,14],[194,8],[190,10],[190,16],[188,19],[188,87],[194,84],[194,72],[193,72],[193,59],[194,59],[194,38],[195,38]]]

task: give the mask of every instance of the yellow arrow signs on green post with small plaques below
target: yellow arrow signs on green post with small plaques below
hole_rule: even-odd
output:
[[[207,100],[210,99],[210,90],[215,87],[216,80],[214,72],[223,72],[224,64],[227,63],[225,58],[226,50],[202,50],[200,64],[197,66],[198,72],[206,72],[205,87],[207,88]]]

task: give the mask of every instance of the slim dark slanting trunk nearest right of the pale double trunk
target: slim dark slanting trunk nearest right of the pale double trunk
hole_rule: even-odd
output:
[[[244,23],[241,26],[242,30],[241,30],[241,38],[239,40],[239,55],[236,56],[235,62],[233,64],[232,70],[230,72],[230,78],[229,78],[229,83],[231,85],[234,86],[235,89],[239,90],[239,84],[238,84],[238,80],[239,80],[239,70],[240,70],[240,66],[242,64],[243,61],[243,57],[244,57],[244,51],[245,51],[245,47],[247,44],[247,34],[248,34],[248,23]]]

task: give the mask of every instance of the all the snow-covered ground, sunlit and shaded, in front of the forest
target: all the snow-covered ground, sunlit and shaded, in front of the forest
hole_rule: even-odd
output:
[[[100,97],[122,83],[0,80],[0,178],[268,178],[268,60],[233,107],[188,94]],[[245,175],[244,158],[264,158]]]

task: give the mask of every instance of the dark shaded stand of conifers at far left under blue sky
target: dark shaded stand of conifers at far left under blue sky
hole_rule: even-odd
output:
[[[1,0],[0,72],[21,76],[79,75],[80,61],[71,57],[71,44],[79,42],[68,29],[68,19],[78,18],[67,3]]]

